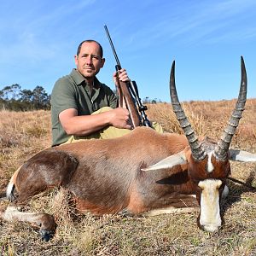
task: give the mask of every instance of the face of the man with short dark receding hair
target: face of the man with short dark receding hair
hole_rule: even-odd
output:
[[[85,79],[93,79],[103,67],[105,59],[101,57],[100,47],[95,42],[82,44],[79,55],[75,55],[77,70]]]

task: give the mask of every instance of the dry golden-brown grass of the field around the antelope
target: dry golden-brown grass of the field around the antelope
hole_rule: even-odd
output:
[[[198,135],[220,137],[234,101],[185,102],[183,104]],[[256,153],[256,99],[247,101],[232,147]],[[182,131],[169,104],[148,106],[148,118],[166,131]],[[0,194],[12,173],[25,160],[50,145],[49,112],[0,112]],[[256,187],[256,165],[232,163],[233,177]],[[58,229],[49,242],[39,239],[29,224],[1,222],[0,255],[255,255],[256,193],[230,183],[224,202],[224,229],[210,234],[198,230],[196,213],[154,218],[95,218],[79,215],[67,207],[68,192],[53,190],[36,196],[26,211],[55,215]],[[8,204],[4,198],[1,206]]]

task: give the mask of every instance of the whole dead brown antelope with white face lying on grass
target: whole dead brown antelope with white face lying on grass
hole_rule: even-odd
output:
[[[20,212],[17,207],[33,195],[62,186],[72,193],[76,207],[82,212],[150,215],[178,212],[180,208],[190,211],[199,205],[200,228],[218,230],[222,224],[220,200],[228,191],[225,183],[230,175],[230,160],[256,161],[256,154],[230,149],[246,102],[244,61],[241,57],[236,108],[218,144],[195,136],[177,98],[174,69],[173,61],[172,106],[184,136],[137,127],[124,137],[45,149],[27,160],[11,177],[7,196],[13,201],[14,189],[19,195],[0,216],[8,221],[38,224],[43,239],[49,240],[55,231],[53,216]]]

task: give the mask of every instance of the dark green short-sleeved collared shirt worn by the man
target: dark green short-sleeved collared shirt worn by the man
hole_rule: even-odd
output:
[[[117,107],[117,98],[106,85],[94,80],[94,88],[90,91],[84,77],[76,70],[58,79],[51,93],[52,145],[67,142],[70,136],[64,131],[59,114],[68,108],[75,108],[79,115],[87,115],[103,107]]]

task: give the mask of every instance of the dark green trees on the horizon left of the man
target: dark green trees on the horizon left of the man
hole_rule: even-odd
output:
[[[49,109],[49,95],[42,86],[22,90],[20,84],[5,86],[0,90],[0,109],[27,111]]]

